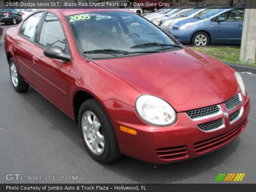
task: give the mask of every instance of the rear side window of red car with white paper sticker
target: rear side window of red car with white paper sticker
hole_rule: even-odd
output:
[[[26,19],[22,25],[20,34],[32,41],[35,41],[36,30],[42,15],[43,12],[39,12]]]

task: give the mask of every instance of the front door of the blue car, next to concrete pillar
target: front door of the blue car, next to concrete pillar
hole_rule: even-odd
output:
[[[240,43],[242,39],[242,28],[244,9],[234,9],[220,15],[225,18],[224,22],[215,23],[214,42]]]

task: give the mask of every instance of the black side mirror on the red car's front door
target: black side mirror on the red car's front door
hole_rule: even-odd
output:
[[[44,49],[44,55],[53,59],[60,59],[66,62],[71,61],[71,54],[68,51],[63,51],[59,46],[48,46]]]

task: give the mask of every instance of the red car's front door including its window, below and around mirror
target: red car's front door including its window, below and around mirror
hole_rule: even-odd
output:
[[[42,23],[37,38],[38,46],[34,46],[33,71],[35,86],[46,98],[67,114],[71,113],[68,96],[68,80],[71,62],[48,58],[44,55],[44,48],[50,45],[68,50],[69,46],[65,32],[58,17],[48,12]]]

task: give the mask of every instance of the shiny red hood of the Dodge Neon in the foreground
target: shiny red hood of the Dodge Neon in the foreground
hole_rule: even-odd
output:
[[[92,62],[142,94],[166,100],[177,112],[220,104],[239,91],[234,70],[190,48]]]

